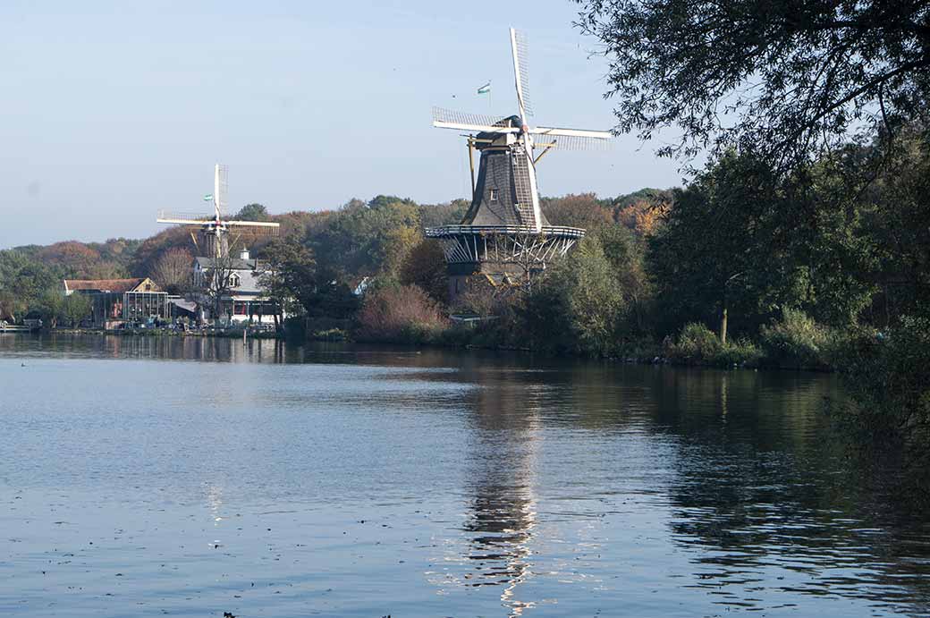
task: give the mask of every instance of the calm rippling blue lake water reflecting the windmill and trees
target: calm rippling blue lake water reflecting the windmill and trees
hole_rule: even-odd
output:
[[[0,335],[0,615],[930,615],[814,373]]]

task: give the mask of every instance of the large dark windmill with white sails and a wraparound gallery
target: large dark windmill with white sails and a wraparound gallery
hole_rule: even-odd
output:
[[[536,164],[551,149],[604,147],[611,134],[573,128],[529,127],[523,35],[511,29],[519,114],[494,117],[433,108],[432,126],[464,131],[472,164],[472,206],[458,225],[426,230],[443,246],[449,298],[474,283],[518,285],[568,252],[584,230],[553,226],[539,209]]]

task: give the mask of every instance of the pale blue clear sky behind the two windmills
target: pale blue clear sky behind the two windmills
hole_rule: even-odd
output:
[[[396,5],[392,7],[392,5]],[[515,109],[507,29],[529,41],[539,124],[609,128],[605,60],[568,0],[0,3],[0,248],[141,237],[196,211],[213,165],[231,208],[336,208],[379,193],[468,193],[440,105]],[[680,182],[658,144],[539,164],[543,195]]]

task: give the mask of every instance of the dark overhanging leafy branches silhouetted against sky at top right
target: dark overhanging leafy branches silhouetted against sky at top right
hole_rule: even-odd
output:
[[[926,120],[930,5],[909,0],[576,0],[604,45],[618,130],[665,155],[808,160],[850,129]]]

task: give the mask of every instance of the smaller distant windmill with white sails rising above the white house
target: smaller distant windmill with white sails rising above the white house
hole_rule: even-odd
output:
[[[261,222],[261,221],[234,221],[223,218],[223,212],[228,206],[227,184],[228,168],[219,163],[216,166],[213,178],[213,193],[205,195],[206,201],[213,202],[213,214],[188,214],[180,212],[166,212],[162,210],[158,213],[159,223],[170,223],[175,225],[184,225],[199,230],[204,246],[197,243],[196,236],[191,233],[193,244],[198,250],[202,250],[209,258],[225,258],[230,254],[230,246],[246,235],[250,238],[263,235],[277,235],[280,223]],[[232,236],[232,243],[231,243]]]

